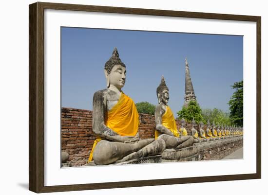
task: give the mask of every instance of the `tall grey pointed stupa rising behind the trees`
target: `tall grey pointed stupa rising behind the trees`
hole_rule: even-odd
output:
[[[184,95],[184,107],[187,107],[190,101],[196,101],[194,90],[191,83],[191,76],[189,70],[189,64],[187,57],[185,58],[185,95]]]

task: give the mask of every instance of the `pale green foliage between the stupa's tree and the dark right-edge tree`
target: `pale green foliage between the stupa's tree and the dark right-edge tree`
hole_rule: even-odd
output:
[[[231,124],[230,114],[222,111],[221,109],[202,109],[202,116],[204,122],[210,120],[211,123],[214,122],[215,124]]]

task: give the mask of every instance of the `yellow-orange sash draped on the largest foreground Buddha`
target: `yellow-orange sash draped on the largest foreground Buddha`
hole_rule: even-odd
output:
[[[121,92],[121,96],[114,107],[107,113],[105,125],[115,131],[120,136],[135,136],[138,132],[139,115],[133,100]],[[102,138],[97,136],[88,162],[93,160],[93,152],[96,144]]]

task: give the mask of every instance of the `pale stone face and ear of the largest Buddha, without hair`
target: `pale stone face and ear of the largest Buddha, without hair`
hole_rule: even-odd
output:
[[[117,89],[121,89],[124,87],[126,82],[126,68],[121,65],[115,65],[110,74],[106,70],[104,70],[105,77],[107,80],[107,87],[109,88],[111,85],[115,86]]]

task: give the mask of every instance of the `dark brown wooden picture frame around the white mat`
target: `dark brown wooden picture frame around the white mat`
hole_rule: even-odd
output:
[[[69,10],[98,13],[134,14],[182,18],[203,18],[256,22],[256,173],[210,177],[166,178],[153,180],[44,186],[44,10]],[[212,182],[261,178],[261,17],[181,12],[123,7],[106,7],[37,2],[29,5],[29,190],[36,193],[77,191]]]

